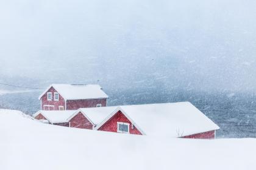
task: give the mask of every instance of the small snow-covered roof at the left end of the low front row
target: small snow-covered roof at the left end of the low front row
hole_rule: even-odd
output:
[[[68,118],[73,115],[77,110],[39,110],[33,115],[36,117],[41,114],[50,123],[64,123],[68,122]]]

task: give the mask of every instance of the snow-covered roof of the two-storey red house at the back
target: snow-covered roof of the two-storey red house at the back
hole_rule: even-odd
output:
[[[54,87],[65,100],[108,98],[107,94],[98,84],[74,85],[74,84],[51,84],[40,96],[39,100],[48,90]]]

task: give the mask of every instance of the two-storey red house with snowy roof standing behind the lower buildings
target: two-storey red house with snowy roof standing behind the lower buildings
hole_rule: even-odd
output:
[[[98,84],[52,84],[38,98],[41,110],[76,110],[105,107],[108,96]]]

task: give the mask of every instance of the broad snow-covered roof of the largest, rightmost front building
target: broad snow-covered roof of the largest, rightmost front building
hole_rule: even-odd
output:
[[[219,129],[219,126],[189,102],[119,106],[96,129],[118,110],[146,135],[182,137]]]

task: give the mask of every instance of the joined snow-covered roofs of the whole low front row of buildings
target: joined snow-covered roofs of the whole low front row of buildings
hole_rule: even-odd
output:
[[[146,135],[182,137],[219,129],[212,120],[189,102],[141,104],[130,106],[90,107],[79,110],[40,110],[50,123],[68,122],[79,112],[99,129],[121,110],[135,127]]]

